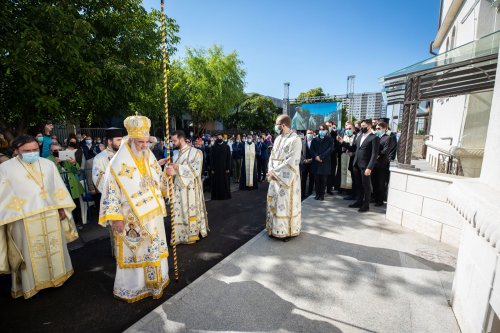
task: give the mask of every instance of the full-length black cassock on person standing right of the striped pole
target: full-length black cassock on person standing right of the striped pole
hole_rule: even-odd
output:
[[[210,178],[212,200],[231,199],[229,170],[231,170],[231,150],[225,143],[216,143],[210,157]]]

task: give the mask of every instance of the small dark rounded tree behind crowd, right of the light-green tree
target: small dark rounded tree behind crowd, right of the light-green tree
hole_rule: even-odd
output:
[[[269,97],[251,94],[228,118],[237,129],[268,131],[274,126],[276,106]]]

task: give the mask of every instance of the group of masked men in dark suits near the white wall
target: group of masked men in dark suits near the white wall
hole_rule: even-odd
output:
[[[349,207],[369,210],[370,202],[383,206],[387,199],[389,165],[397,153],[398,139],[388,119],[347,121],[338,129],[327,121],[315,132],[309,129],[302,146],[302,198],[315,191],[316,200],[325,193],[345,194],[355,200]]]

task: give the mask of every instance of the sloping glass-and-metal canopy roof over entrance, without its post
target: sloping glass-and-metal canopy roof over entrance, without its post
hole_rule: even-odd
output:
[[[382,81],[387,103],[404,103],[407,82],[416,77],[418,100],[493,89],[499,46],[500,31],[497,31],[386,75]]]

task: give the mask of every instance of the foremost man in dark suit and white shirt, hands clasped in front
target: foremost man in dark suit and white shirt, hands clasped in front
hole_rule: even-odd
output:
[[[359,208],[359,212],[370,209],[372,194],[371,174],[378,156],[379,139],[372,133],[370,119],[361,122],[361,134],[356,138],[356,154],[354,155],[353,172],[356,179],[357,200],[351,208]],[[339,138],[342,143],[342,138]]]

